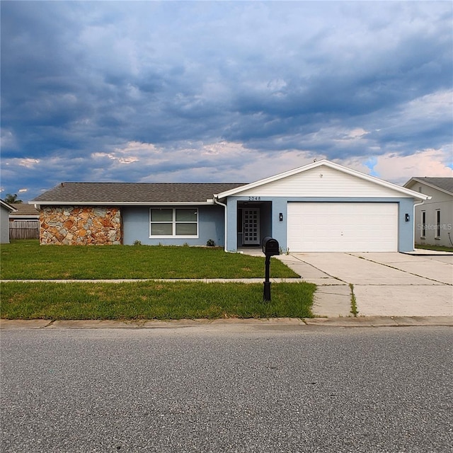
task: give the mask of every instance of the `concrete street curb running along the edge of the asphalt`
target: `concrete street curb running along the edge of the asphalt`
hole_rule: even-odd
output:
[[[453,316],[359,316],[345,318],[271,318],[271,319],[177,319],[159,320],[60,320],[0,319],[1,330],[49,328],[188,328],[222,326],[222,328],[299,327],[408,327],[453,326]]]

